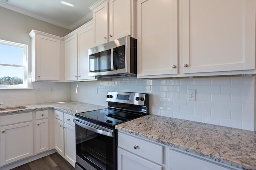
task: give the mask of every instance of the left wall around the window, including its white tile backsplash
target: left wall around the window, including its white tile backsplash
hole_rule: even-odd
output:
[[[28,33],[32,29],[61,37],[70,33],[68,29],[0,7],[0,39],[28,45],[28,70],[31,70],[31,39]],[[31,77],[30,72],[28,76]],[[34,89],[0,89],[0,103],[17,106],[70,100],[70,83],[33,82],[32,86]],[[54,92],[49,92],[49,87],[54,87]]]

